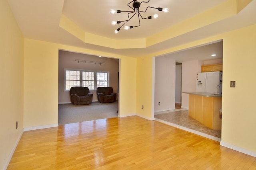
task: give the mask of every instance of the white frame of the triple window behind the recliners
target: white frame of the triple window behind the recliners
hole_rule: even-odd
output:
[[[70,90],[66,89],[66,71],[79,71],[80,72],[80,87],[83,86],[83,81],[82,80],[82,74],[83,72],[94,72],[94,89],[89,89],[92,91],[96,91],[97,90],[97,72],[102,72],[102,73],[107,73],[107,86],[109,86],[109,82],[110,82],[110,72],[109,71],[103,71],[103,70],[84,70],[84,69],[76,69],[76,68],[64,68],[64,91],[69,92]]]

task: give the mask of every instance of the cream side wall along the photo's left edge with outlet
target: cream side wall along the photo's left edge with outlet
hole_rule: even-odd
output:
[[[0,0],[0,169],[23,132],[24,37],[6,0]],[[18,129],[16,129],[18,121]]]

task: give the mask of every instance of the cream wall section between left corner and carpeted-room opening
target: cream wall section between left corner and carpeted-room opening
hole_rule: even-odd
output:
[[[25,39],[24,127],[58,123],[58,46]]]

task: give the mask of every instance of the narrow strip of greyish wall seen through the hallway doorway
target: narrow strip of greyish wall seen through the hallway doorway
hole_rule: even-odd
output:
[[[176,78],[175,78],[175,103],[181,103],[181,76],[182,64],[176,65]]]

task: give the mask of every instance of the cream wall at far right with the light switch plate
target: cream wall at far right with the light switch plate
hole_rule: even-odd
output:
[[[256,156],[256,25],[228,32],[223,40],[222,142]],[[230,88],[230,81],[236,87]]]

